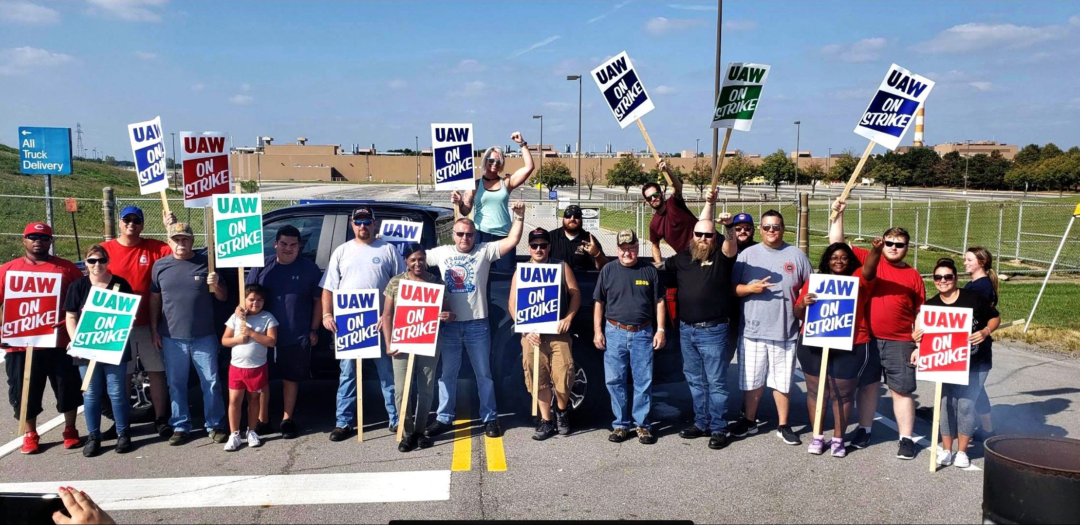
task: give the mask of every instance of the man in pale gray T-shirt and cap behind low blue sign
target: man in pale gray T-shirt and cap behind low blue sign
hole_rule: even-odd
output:
[[[334,322],[334,291],[375,288],[382,296],[390,279],[405,271],[405,259],[393,244],[375,237],[379,231],[375,212],[369,206],[352,211],[352,232],[354,238],[338,246],[330,254],[326,272],[319,286],[323,288],[323,326],[337,332]],[[387,341],[382,341],[383,345]],[[394,365],[386,352],[375,359],[375,369],[379,373],[382,401],[390,419],[390,431],[397,431],[397,406],[394,404]],[[330,441],[342,441],[352,433],[356,417],[356,361],[340,360],[341,376],[338,378],[337,423],[330,432]]]

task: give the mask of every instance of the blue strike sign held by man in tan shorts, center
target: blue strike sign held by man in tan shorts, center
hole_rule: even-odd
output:
[[[514,332],[558,334],[563,265],[517,265]]]

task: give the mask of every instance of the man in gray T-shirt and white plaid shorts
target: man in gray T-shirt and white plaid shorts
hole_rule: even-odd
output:
[[[808,279],[810,259],[784,242],[784,217],[769,210],[761,216],[761,243],[741,252],[731,270],[742,300],[739,386],[744,403],[732,435],[757,433],[757,405],[768,386],[777,404],[777,435],[788,445],[802,443],[787,423],[787,412],[799,333],[792,306]]]

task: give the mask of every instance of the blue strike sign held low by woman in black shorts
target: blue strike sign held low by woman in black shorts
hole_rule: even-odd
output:
[[[851,350],[855,338],[855,308],[859,278],[811,273],[808,293],[818,302],[807,307],[802,344],[808,347]]]

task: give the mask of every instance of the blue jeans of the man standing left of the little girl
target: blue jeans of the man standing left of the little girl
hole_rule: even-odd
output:
[[[208,335],[188,339],[161,338],[165,356],[165,377],[168,396],[173,401],[173,417],[168,425],[177,432],[191,432],[191,414],[188,410],[188,369],[195,365],[195,374],[203,391],[203,416],[206,431],[224,429],[225,402],[217,374],[217,336]]]

